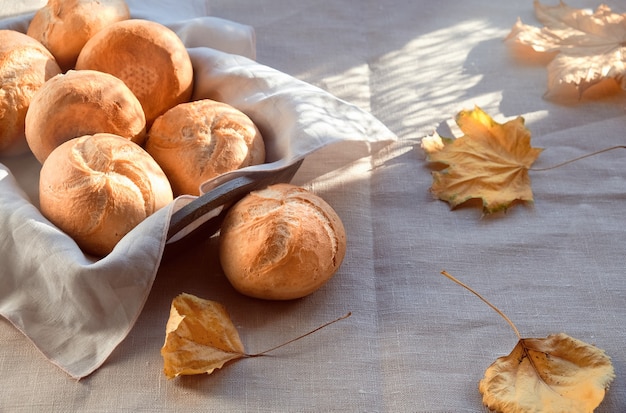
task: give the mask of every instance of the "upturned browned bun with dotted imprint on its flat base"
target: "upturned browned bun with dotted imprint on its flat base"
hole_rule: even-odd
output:
[[[76,62],[122,79],[141,102],[146,123],[191,99],[193,67],[183,42],[162,24],[130,19],[92,37]]]

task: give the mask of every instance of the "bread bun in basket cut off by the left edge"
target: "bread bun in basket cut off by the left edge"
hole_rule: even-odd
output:
[[[0,30],[0,155],[28,152],[24,122],[33,95],[61,73],[38,41],[14,30]]]

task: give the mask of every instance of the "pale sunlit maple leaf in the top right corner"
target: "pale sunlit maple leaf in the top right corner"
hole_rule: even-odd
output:
[[[535,1],[534,9],[544,27],[518,19],[506,41],[552,58],[547,67],[548,96],[564,97],[562,86],[571,85],[580,98],[607,79],[626,89],[626,14],[614,13],[606,5],[595,12],[574,9],[562,1],[558,6]]]

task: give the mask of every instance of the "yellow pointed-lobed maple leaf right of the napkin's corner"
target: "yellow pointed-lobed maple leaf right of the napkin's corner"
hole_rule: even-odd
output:
[[[428,160],[446,166],[432,172],[431,192],[452,208],[481,199],[486,214],[506,210],[516,200],[532,202],[528,169],[542,149],[531,147],[524,119],[500,124],[475,107],[461,111],[456,123],[463,136],[422,140]]]

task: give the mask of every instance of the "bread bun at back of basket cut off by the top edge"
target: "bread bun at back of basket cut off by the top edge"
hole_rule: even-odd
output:
[[[124,0],[48,0],[26,33],[46,46],[65,71],[74,67],[87,40],[126,19],[130,11]]]

